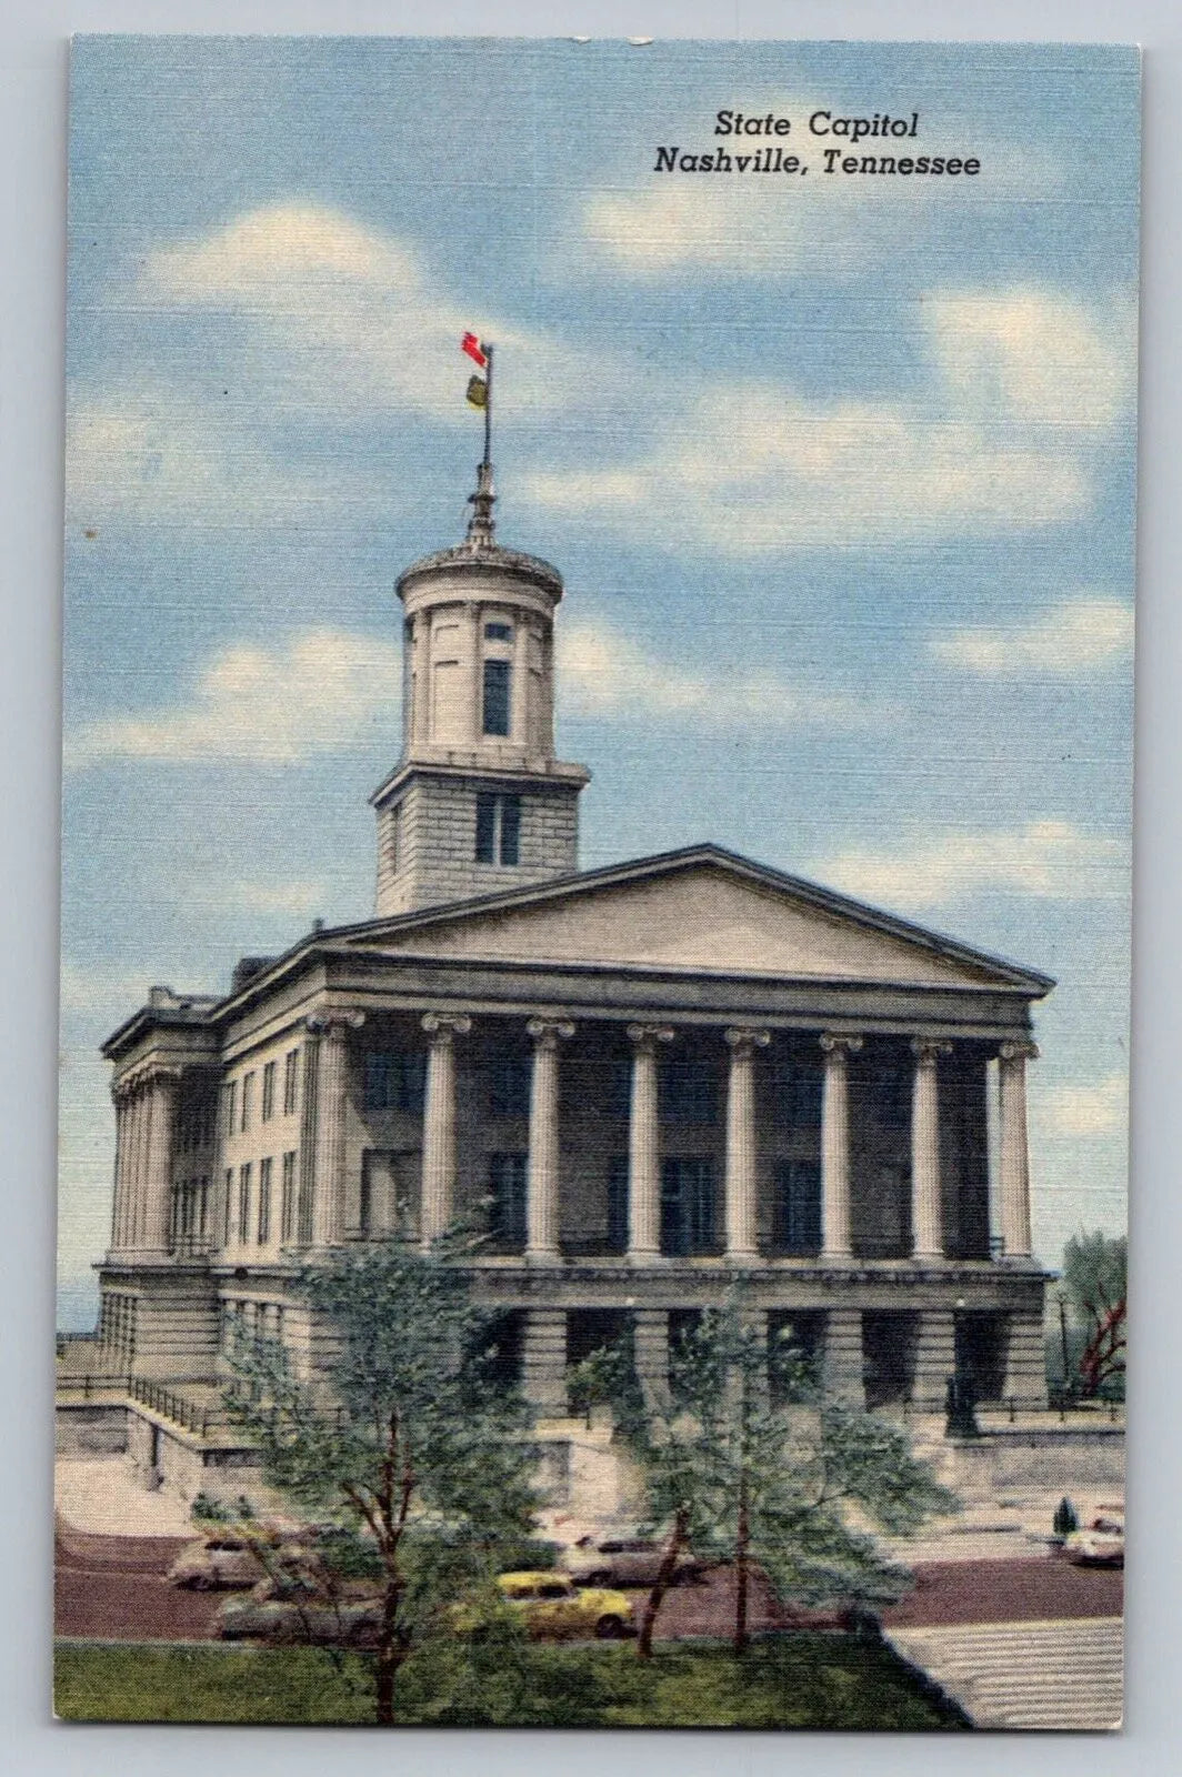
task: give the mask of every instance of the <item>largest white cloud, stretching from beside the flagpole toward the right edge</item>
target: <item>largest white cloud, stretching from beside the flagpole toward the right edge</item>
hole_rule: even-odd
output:
[[[935,297],[919,323],[922,398],[811,402],[771,379],[718,382],[663,407],[631,462],[547,467],[526,489],[556,514],[727,554],[931,544],[1084,517],[1097,444],[1130,394],[1123,338],[1047,293]],[[1072,405],[1074,379],[1100,393]]]

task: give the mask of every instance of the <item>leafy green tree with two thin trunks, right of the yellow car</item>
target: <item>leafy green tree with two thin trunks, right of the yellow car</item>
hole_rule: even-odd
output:
[[[686,1544],[731,1560],[734,1649],[743,1653],[755,1564],[782,1599],[898,1598],[906,1571],[883,1558],[859,1519],[906,1535],[933,1512],[958,1509],[901,1430],[823,1398],[787,1342],[770,1354],[738,1294],[677,1342],[668,1388],[651,1388],[643,1411],[631,1384],[620,1427],[649,1509],[670,1526],[636,1642],[642,1660]]]

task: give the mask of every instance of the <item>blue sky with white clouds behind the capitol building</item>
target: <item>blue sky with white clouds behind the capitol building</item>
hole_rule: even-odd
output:
[[[722,107],[809,174],[652,172]],[[814,110],[981,174],[825,176]],[[1123,1226],[1132,52],[84,37],[69,231],[68,1320],[98,1041],[371,906],[466,327],[501,535],[567,581],[583,862],[713,839],[1054,974],[1036,1244]]]

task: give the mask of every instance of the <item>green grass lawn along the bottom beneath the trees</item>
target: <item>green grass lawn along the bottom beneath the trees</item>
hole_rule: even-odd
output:
[[[62,1644],[57,1713],[73,1722],[373,1720],[371,1665],[323,1649]],[[437,1640],[398,1679],[407,1727],[960,1729],[882,1646],[844,1635],[720,1644],[499,1647]]]

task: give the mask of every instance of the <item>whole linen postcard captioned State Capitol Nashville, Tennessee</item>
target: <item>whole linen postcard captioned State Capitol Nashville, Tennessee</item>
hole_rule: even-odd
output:
[[[78,37],[57,1713],[1114,1729],[1139,59]]]

